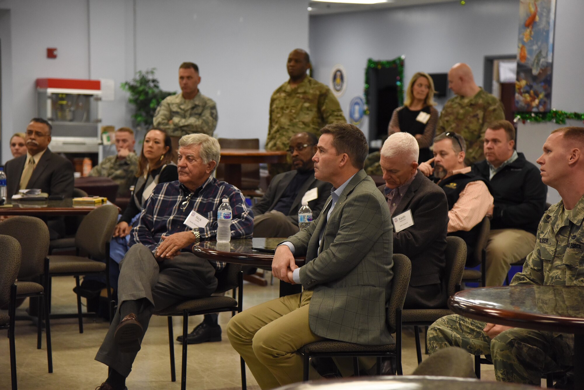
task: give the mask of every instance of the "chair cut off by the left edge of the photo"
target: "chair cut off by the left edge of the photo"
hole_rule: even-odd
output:
[[[16,345],[14,320],[16,311],[16,276],[20,269],[20,244],[7,235],[0,235],[0,306],[9,304],[8,314],[0,311],[0,329],[8,329],[12,390],[16,390]],[[3,379],[4,381],[4,379]]]

